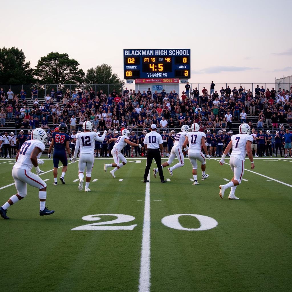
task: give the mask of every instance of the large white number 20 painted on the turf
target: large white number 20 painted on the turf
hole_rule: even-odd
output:
[[[96,214],[96,215],[87,215],[83,216],[82,220],[85,221],[99,221],[101,216],[114,216],[117,217],[116,219],[105,221],[105,222],[96,222],[86,225],[81,225],[71,230],[133,230],[137,224],[133,225],[120,225],[120,226],[110,226],[111,224],[118,224],[118,223],[126,223],[135,220],[135,217],[131,215],[124,215],[124,214]],[[199,220],[200,227],[199,228],[185,228],[179,222],[180,216],[192,216]],[[201,230],[208,230],[216,227],[218,222],[208,216],[198,215],[198,214],[174,214],[169,215],[161,220],[162,224],[173,229],[177,230],[186,230],[186,231],[201,231]]]

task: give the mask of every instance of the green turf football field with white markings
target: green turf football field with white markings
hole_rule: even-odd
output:
[[[253,170],[247,159],[240,200],[228,200],[230,190],[220,199],[233,174],[219,159],[206,161],[204,181],[198,167],[199,185],[188,159],[173,177],[164,168],[164,184],[155,162],[142,182],[145,158],[128,159],[116,178],[103,171],[111,159],[95,159],[91,192],[78,190],[78,162],[65,185],[59,168],[53,186],[52,159],[44,161],[55,213],[40,217],[28,186],[10,220],[0,218],[2,291],[291,291],[292,159],[255,159]],[[0,206],[16,194],[13,163],[0,161]]]

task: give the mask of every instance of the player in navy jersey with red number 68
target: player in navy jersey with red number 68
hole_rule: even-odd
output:
[[[65,185],[64,176],[65,176],[65,173],[67,171],[67,165],[68,165],[66,149],[67,149],[70,161],[71,161],[71,151],[70,151],[70,147],[69,147],[70,136],[66,134],[67,125],[64,123],[60,124],[59,131],[60,132],[53,133],[52,142],[51,142],[49,152],[48,152],[48,158],[51,158],[51,152],[52,152],[52,149],[54,146],[54,153],[53,153],[54,183],[53,183],[53,185],[58,185],[57,175],[58,175],[58,167],[59,167],[60,161],[63,164],[62,175],[60,177],[60,180],[61,180],[62,184]]]

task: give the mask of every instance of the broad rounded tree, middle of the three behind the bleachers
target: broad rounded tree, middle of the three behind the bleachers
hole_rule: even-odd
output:
[[[43,84],[77,84],[82,83],[84,71],[78,69],[79,62],[70,59],[66,53],[49,53],[41,57],[35,69],[35,75]]]

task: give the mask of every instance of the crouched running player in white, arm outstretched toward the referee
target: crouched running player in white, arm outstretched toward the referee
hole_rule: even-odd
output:
[[[112,175],[113,178],[115,178],[116,176],[114,175],[114,173],[121,167],[123,167],[124,165],[126,165],[127,160],[124,157],[123,154],[121,154],[121,150],[126,146],[126,144],[129,144],[131,146],[138,146],[139,148],[142,147],[141,144],[136,144],[134,142],[131,142],[129,140],[130,138],[130,131],[127,129],[124,129],[121,132],[121,136],[119,136],[118,138],[111,138],[109,139],[109,143],[112,141],[115,141],[116,143],[114,144],[114,147],[112,148],[112,157],[114,158],[114,163],[110,163],[110,164],[104,164],[103,166],[103,170],[105,172],[107,172],[107,168],[108,167],[114,167],[114,169],[112,171],[110,171],[109,173]]]

